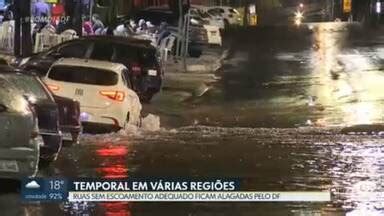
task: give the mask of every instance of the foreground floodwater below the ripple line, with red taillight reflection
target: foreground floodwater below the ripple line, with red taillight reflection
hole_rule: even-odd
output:
[[[61,172],[64,166],[80,163],[78,176],[239,177],[250,190],[331,190],[334,199],[320,204],[82,203],[57,208],[100,215],[362,215],[359,212],[367,211],[380,215],[383,202],[367,199],[361,188],[384,190],[382,138],[381,134],[342,135],[338,129],[203,126],[143,132],[129,136],[129,142],[125,136],[100,136],[104,145],[88,140],[65,149],[67,157],[56,163],[56,175],[70,175]]]

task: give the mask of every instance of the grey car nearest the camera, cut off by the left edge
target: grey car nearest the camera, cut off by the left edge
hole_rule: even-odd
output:
[[[0,79],[0,122],[0,178],[34,177],[40,151],[37,117],[5,79]]]

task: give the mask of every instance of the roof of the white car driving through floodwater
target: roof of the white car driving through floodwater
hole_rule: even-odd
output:
[[[57,60],[52,66],[77,66],[87,68],[104,69],[108,71],[120,72],[126,67],[120,63],[113,63],[108,61],[99,61],[91,59],[79,59],[79,58],[61,58]]]

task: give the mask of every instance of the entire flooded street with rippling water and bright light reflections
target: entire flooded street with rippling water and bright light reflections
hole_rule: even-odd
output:
[[[254,191],[330,190],[332,202],[20,205],[11,191],[0,194],[0,214],[384,215],[384,199],[362,190],[384,191],[384,133],[342,131],[384,123],[382,34],[324,23],[228,40],[222,80],[205,95],[164,91],[144,105],[160,129],[84,135],[39,176],[236,177]]]

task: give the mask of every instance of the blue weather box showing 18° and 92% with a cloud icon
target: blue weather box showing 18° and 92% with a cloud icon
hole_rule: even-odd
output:
[[[68,181],[59,178],[26,178],[21,182],[21,196],[26,202],[62,202],[68,197]]]

